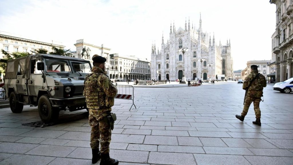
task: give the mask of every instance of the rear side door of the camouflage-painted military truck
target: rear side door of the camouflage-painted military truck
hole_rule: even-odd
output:
[[[18,60],[18,71],[16,75],[16,90],[18,94],[28,95],[27,83],[25,80],[25,62],[26,58]]]

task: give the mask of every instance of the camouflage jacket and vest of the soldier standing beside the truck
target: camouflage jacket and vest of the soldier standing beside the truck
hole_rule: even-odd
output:
[[[117,88],[102,69],[93,67],[91,71],[84,80],[86,107],[98,110],[99,114],[111,111]]]

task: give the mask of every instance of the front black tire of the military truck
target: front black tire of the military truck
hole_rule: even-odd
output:
[[[52,107],[49,98],[49,95],[42,95],[38,102],[38,112],[45,123],[55,122],[59,117],[59,110]]]

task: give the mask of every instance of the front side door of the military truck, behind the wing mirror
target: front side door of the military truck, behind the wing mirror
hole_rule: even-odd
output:
[[[30,96],[38,96],[38,91],[43,89],[42,71],[37,69],[37,63],[42,62],[41,57],[31,58],[30,75],[28,78],[28,94]]]

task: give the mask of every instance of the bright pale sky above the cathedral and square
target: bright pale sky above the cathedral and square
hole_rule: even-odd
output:
[[[151,44],[161,50],[162,32],[169,39],[190,24],[215,34],[216,43],[231,40],[234,70],[249,60],[271,59],[275,4],[269,0],[1,0],[0,31],[43,42],[58,41],[75,50],[76,40],[111,53],[151,59]],[[191,26],[191,25],[190,25]]]

